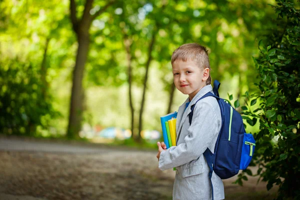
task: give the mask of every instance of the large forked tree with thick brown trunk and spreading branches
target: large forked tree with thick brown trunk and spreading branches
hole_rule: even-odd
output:
[[[69,120],[67,127],[67,137],[72,138],[78,134],[81,128],[82,121],[82,101],[84,89],[82,87],[82,79],[84,75],[84,66],[87,59],[89,48],[89,28],[91,22],[101,13],[103,13],[113,1],[109,1],[106,5],[90,14],[93,0],[86,0],[83,13],[80,19],[76,16],[75,0],[70,0],[70,20],[72,28],[76,34],[78,41],[78,48],[76,54],[76,62],[72,74],[72,89],[69,107]]]

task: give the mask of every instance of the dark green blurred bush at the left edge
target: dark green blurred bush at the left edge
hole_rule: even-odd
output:
[[[40,71],[17,59],[0,63],[0,132],[37,135],[37,126],[47,128],[59,116],[45,96]]]

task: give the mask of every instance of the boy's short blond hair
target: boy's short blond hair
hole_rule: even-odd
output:
[[[203,69],[209,68],[210,71],[207,49],[206,47],[201,46],[197,43],[186,43],[174,50],[171,58],[171,63],[173,64],[176,60],[181,60],[184,62],[187,60],[192,60],[195,61],[195,63],[199,67],[202,67]],[[209,74],[209,77],[206,80],[206,85],[210,83],[211,77]]]

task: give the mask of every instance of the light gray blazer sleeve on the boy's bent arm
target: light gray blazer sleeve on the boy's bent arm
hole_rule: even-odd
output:
[[[199,101],[194,107],[191,124],[185,130],[187,134],[183,142],[160,153],[159,169],[165,170],[197,159],[217,136],[221,124],[219,120],[210,102]]]

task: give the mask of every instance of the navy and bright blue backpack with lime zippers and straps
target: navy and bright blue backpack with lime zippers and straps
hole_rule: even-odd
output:
[[[211,153],[207,148],[203,155],[210,168],[209,178],[211,178],[213,170],[221,179],[226,179],[236,175],[239,169],[247,168],[254,152],[255,140],[252,134],[245,133],[240,114],[226,100],[219,97],[219,85],[220,83],[214,80],[214,94],[207,92],[199,99],[201,100],[207,96],[215,97],[219,104],[222,118],[222,125],[215,143],[214,153]],[[195,104],[190,108],[189,124],[191,124]]]

